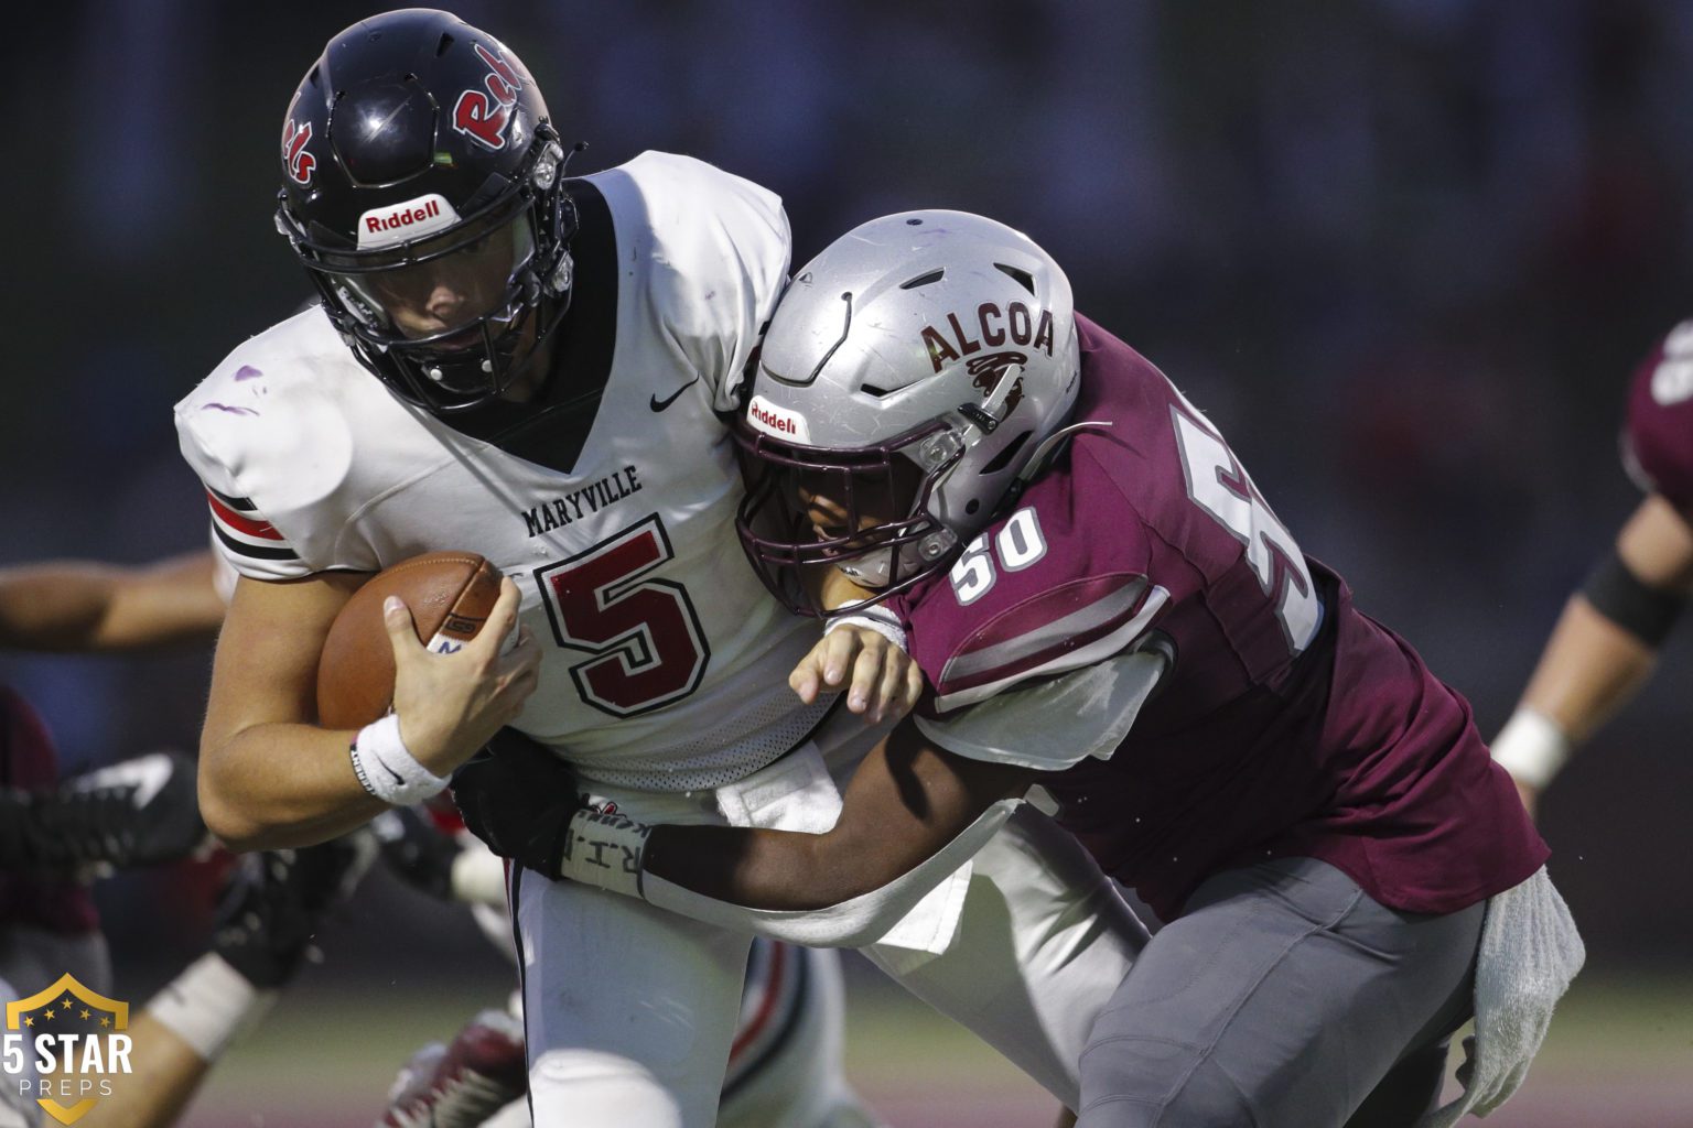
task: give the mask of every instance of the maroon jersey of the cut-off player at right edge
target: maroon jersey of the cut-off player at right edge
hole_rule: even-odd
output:
[[[1693,519],[1693,321],[1669,330],[1634,374],[1622,460],[1641,489]]]

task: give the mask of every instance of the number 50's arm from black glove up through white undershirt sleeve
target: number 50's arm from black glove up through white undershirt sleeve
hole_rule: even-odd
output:
[[[985,700],[911,715],[857,768],[824,834],[596,812],[533,742],[466,764],[454,798],[466,827],[525,869],[775,940],[857,947],[980,849],[1041,773],[1121,747],[1173,660],[1146,634],[1109,660],[1050,665]]]

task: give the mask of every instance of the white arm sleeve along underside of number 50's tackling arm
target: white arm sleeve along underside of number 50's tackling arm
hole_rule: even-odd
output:
[[[863,947],[880,940],[929,890],[987,846],[987,841],[1004,825],[1019,802],[1014,798],[999,800],[965,827],[958,837],[907,873],[877,890],[828,908],[747,908],[694,893],[650,873],[642,874],[642,896],[659,908],[669,908],[674,913],[725,928],[755,932],[772,940],[787,940],[806,947]]]

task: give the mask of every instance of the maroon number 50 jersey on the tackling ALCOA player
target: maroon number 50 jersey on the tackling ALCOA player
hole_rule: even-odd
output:
[[[1464,698],[1300,553],[1158,369],[1078,323],[1073,421],[1109,426],[1080,431],[950,573],[892,602],[928,678],[923,731],[1053,769],[1060,822],[1165,920],[1212,873],[1275,856],[1426,913],[1532,874],[1546,844]],[[1175,660],[1133,726],[1100,715],[1131,712],[1106,690],[1053,688],[1153,641]],[[1019,700],[1046,707],[1017,747],[948,742],[972,710]]]

